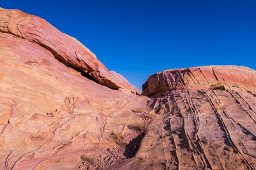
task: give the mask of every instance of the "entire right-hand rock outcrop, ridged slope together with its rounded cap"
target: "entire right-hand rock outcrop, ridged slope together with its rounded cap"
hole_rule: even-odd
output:
[[[156,116],[136,157],[109,169],[256,169],[256,71],[203,66],[150,76]]]

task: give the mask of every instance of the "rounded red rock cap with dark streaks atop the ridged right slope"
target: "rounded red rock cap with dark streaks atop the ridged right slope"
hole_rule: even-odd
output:
[[[201,66],[186,69],[169,69],[148,78],[143,84],[143,95],[164,96],[166,92],[180,89],[212,89],[223,85],[227,89],[256,92],[256,71],[242,66]]]

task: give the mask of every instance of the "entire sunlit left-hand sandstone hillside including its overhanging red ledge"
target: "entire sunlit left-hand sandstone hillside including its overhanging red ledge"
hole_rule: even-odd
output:
[[[147,110],[147,97],[42,18],[1,9],[0,31],[0,169],[78,169],[84,154],[104,166],[124,157],[109,134],[136,138],[124,125],[143,122],[132,110]]]

